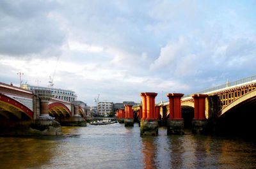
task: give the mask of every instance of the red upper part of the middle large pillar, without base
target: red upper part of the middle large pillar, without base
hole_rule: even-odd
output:
[[[169,110],[170,110],[170,120],[180,120],[181,117],[181,103],[180,98],[184,96],[182,93],[169,93],[166,96],[169,98]]]

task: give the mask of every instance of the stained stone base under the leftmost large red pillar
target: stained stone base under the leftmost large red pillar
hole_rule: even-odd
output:
[[[140,135],[157,136],[158,135],[158,121],[141,120],[140,121]]]

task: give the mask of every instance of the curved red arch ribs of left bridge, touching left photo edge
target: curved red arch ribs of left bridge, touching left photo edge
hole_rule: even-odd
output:
[[[19,119],[21,119],[21,117],[18,115],[20,112],[28,116],[29,119],[33,119],[34,113],[28,107],[4,94],[0,94],[0,108],[2,108],[4,111],[10,112]],[[12,111],[10,111],[10,109],[12,109]]]

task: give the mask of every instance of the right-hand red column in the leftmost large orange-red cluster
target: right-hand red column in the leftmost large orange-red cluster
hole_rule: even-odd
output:
[[[156,92],[145,92],[147,96],[147,120],[155,120],[155,98],[157,96]]]

